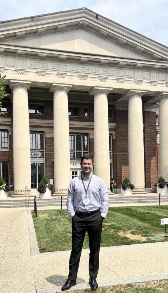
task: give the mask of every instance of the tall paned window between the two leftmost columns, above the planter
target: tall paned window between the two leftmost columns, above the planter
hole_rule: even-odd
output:
[[[38,188],[45,175],[44,133],[30,132],[31,188]]]

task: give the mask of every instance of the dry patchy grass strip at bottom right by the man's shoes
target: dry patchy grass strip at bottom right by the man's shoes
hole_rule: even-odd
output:
[[[93,290],[74,290],[71,293],[91,293]],[[116,285],[109,287],[99,287],[96,293],[167,293],[168,281],[152,281],[144,283],[135,283],[128,285]]]

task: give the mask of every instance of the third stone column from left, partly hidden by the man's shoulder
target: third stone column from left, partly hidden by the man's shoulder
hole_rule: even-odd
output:
[[[110,153],[108,131],[108,99],[111,88],[94,88],[94,172],[102,178],[110,193]]]

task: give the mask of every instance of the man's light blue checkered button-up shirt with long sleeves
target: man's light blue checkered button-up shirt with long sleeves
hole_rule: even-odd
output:
[[[91,178],[92,176],[92,178]],[[73,178],[68,186],[68,199],[67,199],[67,212],[73,217],[76,211],[79,212],[91,212],[101,207],[101,216],[106,218],[108,213],[108,191],[107,186],[104,181],[97,177],[96,175],[89,176],[89,179],[86,180],[82,174],[83,182],[85,188],[89,184],[89,180],[91,178],[91,182],[89,185],[89,189],[87,191],[87,198],[90,199],[89,205],[83,204],[83,199],[85,198],[85,190],[82,184],[81,175]],[[101,201],[101,204],[100,204]]]

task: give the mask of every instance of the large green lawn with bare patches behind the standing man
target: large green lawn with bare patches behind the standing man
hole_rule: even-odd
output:
[[[71,218],[66,209],[41,210],[33,222],[40,252],[71,250]],[[148,236],[164,236],[161,218],[167,206],[110,207],[103,221],[101,247],[153,242]],[[166,241],[166,239],[161,240]],[[88,248],[86,234],[83,248]]]

